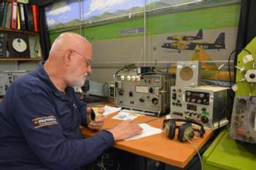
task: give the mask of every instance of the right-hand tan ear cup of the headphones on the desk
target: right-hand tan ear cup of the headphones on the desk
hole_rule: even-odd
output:
[[[194,137],[194,131],[193,126],[190,123],[182,124],[179,126],[179,133],[178,133],[178,139],[180,142],[186,142],[187,139],[193,139]]]

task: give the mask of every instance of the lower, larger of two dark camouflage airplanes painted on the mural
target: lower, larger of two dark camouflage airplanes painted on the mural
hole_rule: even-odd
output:
[[[173,41],[161,45],[162,48],[177,49],[179,53],[182,52],[182,49],[194,50],[196,46],[201,46],[203,49],[225,49],[225,33],[220,33],[214,43],[201,41]]]

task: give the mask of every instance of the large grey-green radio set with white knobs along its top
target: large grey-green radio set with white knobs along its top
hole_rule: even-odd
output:
[[[174,78],[159,74],[120,73],[115,76],[117,107],[141,110],[155,116],[167,113]]]

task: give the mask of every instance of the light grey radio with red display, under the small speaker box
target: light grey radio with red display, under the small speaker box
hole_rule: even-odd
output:
[[[171,118],[193,120],[209,129],[225,126],[227,92],[218,86],[171,86]]]

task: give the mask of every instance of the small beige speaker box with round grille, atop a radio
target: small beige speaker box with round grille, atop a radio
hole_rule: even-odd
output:
[[[200,86],[201,62],[177,62],[176,86]]]

